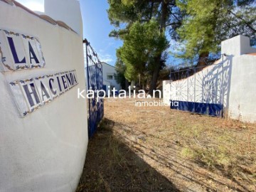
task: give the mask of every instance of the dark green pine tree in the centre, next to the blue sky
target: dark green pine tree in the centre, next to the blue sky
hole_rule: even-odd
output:
[[[132,78],[136,73],[139,77],[142,77],[144,73],[149,73],[151,77],[149,94],[151,94],[156,88],[159,70],[166,59],[164,52],[168,47],[165,43],[161,45],[159,42],[161,39],[166,40],[166,31],[169,31],[170,36],[174,37],[175,29],[180,24],[181,16],[179,9],[176,8],[175,0],[108,0],[108,2],[110,4],[110,9],[108,9],[110,23],[115,27],[110,36],[124,41],[124,46],[121,48],[121,59],[127,66],[126,78]],[[156,44],[145,43],[148,33],[135,32],[139,28],[144,31],[143,28],[152,23],[155,23],[154,32],[157,30],[158,43]],[[133,36],[133,38],[129,38],[129,36]],[[141,40],[144,45],[141,45]],[[150,38],[147,40],[151,41]],[[130,45],[129,42],[133,44]],[[160,49],[161,46],[164,48]],[[134,53],[137,55],[133,55]],[[154,57],[152,58],[151,55]],[[144,73],[142,73],[143,70]]]

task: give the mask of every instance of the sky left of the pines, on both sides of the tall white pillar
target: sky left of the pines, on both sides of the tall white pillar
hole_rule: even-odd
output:
[[[16,0],[32,11],[44,11],[43,0]],[[116,49],[122,41],[108,35],[113,26],[107,17],[107,0],[80,0],[83,23],[83,37],[87,38],[95,49],[100,61],[114,65]]]

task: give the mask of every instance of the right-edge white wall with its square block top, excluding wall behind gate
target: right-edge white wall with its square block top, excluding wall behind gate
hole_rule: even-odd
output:
[[[250,39],[236,36],[221,43],[222,53],[232,60],[228,116],[243,122],[256,122],[256,48]]]

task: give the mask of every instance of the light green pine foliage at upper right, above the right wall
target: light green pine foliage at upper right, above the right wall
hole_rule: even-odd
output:
[[[178,34],[185,43],[181,58],[198,55],[198,65],[206,65],[209,53],[218,53],[220,43],[239,34],[256,38],[256,6],[252,1],[178,1],[183,21]]]

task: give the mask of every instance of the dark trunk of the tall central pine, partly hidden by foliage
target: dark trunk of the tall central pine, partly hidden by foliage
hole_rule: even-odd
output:
[[[166,0],[162,0],[161,3],[161,20],[160,20],[160,33],[162,36],[164,36],[165,28],[166,28],[166,21],[168,16],[168,2]],[[162,53],[159,53],[159,55],[155,58],[155,67],[154,71],[151,77],[151,82],[149,86],[149,95],[153,95],[153,90],[156,89],[156,83],[159,76],[159,71],[161,67],[161,55]]]

